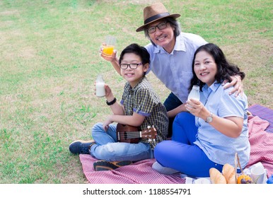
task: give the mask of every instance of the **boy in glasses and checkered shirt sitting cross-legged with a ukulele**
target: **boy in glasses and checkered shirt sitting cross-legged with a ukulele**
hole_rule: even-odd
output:
[[[95,170],[112,170],[132,161],[153,158],[153,148],[168,134],[168,115],[164,105],[151,88],[145,74],[149,69],[149,52],[145,47],[132,44],[120,54],[120,74],[127,80],[120,104],[108,85],[105,85],[105,98],[113,112],[103,123],[92,129],[93,141],[74,141],[70,144],[71,153],[90,153],[100,159],[94,163]],[[148,126],[156,128],[156,141],[141,139],[130,144],[117,141],[117,125],[126,124],[144,131]]]

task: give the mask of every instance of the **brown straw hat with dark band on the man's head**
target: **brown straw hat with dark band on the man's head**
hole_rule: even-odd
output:
[[[143,31],[146,28],[146,25],[158,21],[159,19],[166,17],[178,18],[180,14],[170,14],[165,6],[161,3],[153,4],[151,6],[147,6],[143,10],[144,12],[144,25],[140,26],[136,29],[136,32]]]

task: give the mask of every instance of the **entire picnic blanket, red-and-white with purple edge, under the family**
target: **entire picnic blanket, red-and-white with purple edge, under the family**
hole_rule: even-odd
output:
[[[259,109],[262,118],[250,116],[248,119],[249,140],[251,145],[250,165],[261,162],[267,169],[267,177],[273,174],[273,133],[265,130],[271,129],[268,117],[272,117],[273,110],[260,105],[254,105],[249,108],[250,112],[256,111],[253,115],[259,115]],[[267,113],[265,113],[267,112]],[[268,121],[269,120],[269,121]],[[95,171],[93,163],[96,161],[90,155],[80,155],[83,173],[86,175],[88,182],[92,184],[184,184],[185,178],[180,174],[163,175],[151,168],[155,159],[147,159],[125,165],[116,170]]]

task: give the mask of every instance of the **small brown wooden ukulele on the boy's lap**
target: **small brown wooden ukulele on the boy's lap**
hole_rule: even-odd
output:
[[[147,127],[143,132],[139,132],[137,127],[132,127],[127,124],[117,123],[117,141],[127,143],[138,143],[141,139],[156,139],[156,128]]]

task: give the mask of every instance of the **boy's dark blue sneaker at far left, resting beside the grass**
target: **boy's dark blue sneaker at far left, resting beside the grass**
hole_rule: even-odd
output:
[[[74,154],[90,154],[90,148],[93,144],[95,144],[94,140],[76,140],[69,145],[69,151]]]

